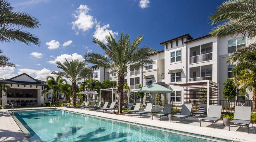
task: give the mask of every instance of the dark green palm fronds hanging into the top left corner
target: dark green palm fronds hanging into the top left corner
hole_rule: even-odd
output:
[[[27,45],[34,43],[39,46],[41,41],[34,34],[22,31],[20,28],[35,29],[39,28],[40,23],[28,13],[13,10],[10,3],[0,0],[0,41],[20,41]]]

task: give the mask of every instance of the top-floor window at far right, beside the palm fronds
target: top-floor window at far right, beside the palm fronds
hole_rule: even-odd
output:
[[[229,45],[228,45],[228,52],[233,53],[237,51],[237,49],[246,46],[246,38],[241,37],[241,38],[236,38],[229,40]]]

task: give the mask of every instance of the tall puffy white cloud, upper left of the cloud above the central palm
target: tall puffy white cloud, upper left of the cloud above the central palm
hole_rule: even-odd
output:
[[[71,22],[72,29],[76,31],[76,34],[79,32],[76,30],[78,28],[82,31],[89,31],[94,25],[94,18],[91,15],[88,15],[89,7],[87,5],[80,5],[75,11],[74,17],[76,21]]]

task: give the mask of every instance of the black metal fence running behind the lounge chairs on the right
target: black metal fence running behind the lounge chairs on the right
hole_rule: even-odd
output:
[[[141,102],[141,99],[132,99],[132,102]],[[155,100],[142,100],[143,104],[155,103]],[[193,104],[192,110],[197,111],[200,103],[207,103],[202,100],[170,100],[170,104],[173,104],[174,109],[181,109],[182,102]],[[162,100],[162,104],[167,104],[168,100]],[[250,106],[253,108],[253,100],[210,100],[210,105],[222,105],[222,112],[235,112],[235,106]],[[252,112],[256,111],[252,109]]]

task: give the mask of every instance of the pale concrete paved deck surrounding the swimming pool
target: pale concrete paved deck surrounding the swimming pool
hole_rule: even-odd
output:
[[[33,109],[49,109],[49,107],[34,107],[34,108],[23,108],[23,109],[15,109],[15,111],[18,110],[33,110]],[[241,142],[253,142],[256,141],[256,125],[254,124],[253,127],[250,125],[250,134],[247,133],[246,127],[238,127],[238,126],[232,126],[231,131],[229,131],[229,127],[224,127],[222,125],[222,121],[219,121],[216,123],[216,129],[213,128],[213,125],[211,123],[202,122],[203,127],[200,126],[199,119],[200,117],[196,118],[196,121],[193,118],[186,118],[186,120],[182,121],[183,124],[180,124],[179,120],[175,119],[172,120],[172,123],[168,120],[166,116],[162,117],[162,121],[160,121],[160,118],[154,117],[154,120],[152,120],[152,116],[149,117],[149,115],[142,116],[139,118],[139,116],[133,117],[133,114],[127,116],[122,115],[115,115],[115,114],[109,114],[109,113],[103,113],[103,112],[96,112],[96,111],[87,111],[87,110],[81,110],[81,109],[73,109],[68,107],[57,107],[59,110],[65,110],[65,111],[72,111],[76,113],[82,113],[82,114],[88,114],[93,116],[98,116],[102,118],[108,118],[108,119],[115,119],[119,121],[126,121],[129,123],[136,123],[141,125],[149,125],[154,127],[160,127],[164,129],[172,129],[182,132],[188,132],[193,134],[199,134],[199,135],[205,135],[210,137],[216,137],[220,139],[228,139],[231,141],[241,141]],[[202,116],[203,118],[205,116]],[[11,117],[10,113],[6,109],[0,109],[0,141],[28,141],[25,137],[25,135],[22,133],[18,125],[15,123],[13,118]]]

